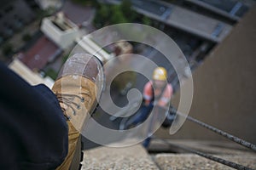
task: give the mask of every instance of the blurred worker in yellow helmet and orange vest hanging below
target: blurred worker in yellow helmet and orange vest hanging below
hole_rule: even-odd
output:
[[[158,110],[165,110],[165,108],[170,105],[171,98],[172,85],[170,83],[167,83],[167,71],[163,67],[157,67],[156,69],[154,69],[152,81],[147,82],[146,85],[144,86],[143,106],[139,110],[137,116],[135,116],[133,120],[129,121],[131,123],[127,124],[126,128],[136,126],[137,124],[144,122],[148,118],[154,105],[159,107]],[[166,126],[171,126],[172,124],[172,121],[165,122]],[[144,141],[143,145],[145,147],[148,147],[149,142],[150,137],[148,137],[148,139]]]

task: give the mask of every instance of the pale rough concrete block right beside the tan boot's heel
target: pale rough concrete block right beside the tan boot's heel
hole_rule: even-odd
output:
[[[124,148],[99,147],[84,150],[82,170],[85,169],[159,169],[141,145]]]

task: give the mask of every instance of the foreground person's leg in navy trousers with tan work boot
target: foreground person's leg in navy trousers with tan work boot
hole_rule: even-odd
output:
[[[54,93],[43,84],[29,85],[0,63],[0,169],[79,169],[76,127],[95,109],[95,96],[102,92],[95,76],[102,77],[102,71],[96,57],[87,54],[68,62],[72,65],[64,65]]]

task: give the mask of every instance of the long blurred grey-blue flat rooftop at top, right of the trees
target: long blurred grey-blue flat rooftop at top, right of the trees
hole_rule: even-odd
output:
[[[108,2],[120,3],[120,0],[108,0]],[[220,20],[197,14],[171,3],[153,0],[132,0],[131,3],[140,14],[211,42],[221,42],[232,29],[232,26]]]

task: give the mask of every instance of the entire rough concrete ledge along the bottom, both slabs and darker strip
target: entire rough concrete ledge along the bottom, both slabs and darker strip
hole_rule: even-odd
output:
[[[252,169],[256,169],[256,155],[250,150],[233,144],[230,142],[213,142],[213,141],[191,141],[191,140],[175,140],[175,144],[187,145],[195,149],[201,145],[201,150],[207,153],[209,150],[215,150],[213,156],[223,158],[227,161],[234,161]],[[153,140],[151,147],[163,147],[162,143],[156,143]],[[170,148],[169,148],[170,150]],[[173,150],[173,149],[172,149]],[[199,150],[199,149],[197,149]],[[154,150],[155,151],[155,150]],[[168,151],[168,150],[166,150]],[[89,169],[233,169],[232,167],[224,166],[215,161],[210,161],[204,157],[190,153],[151,153],[137,144],[123,148],[98,147],[96,149],[84,150],[83,170]]]

